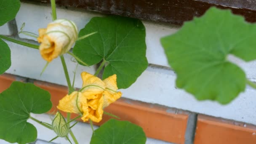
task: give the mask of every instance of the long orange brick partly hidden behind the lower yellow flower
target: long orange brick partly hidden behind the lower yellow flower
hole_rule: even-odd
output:
[[[35,85],[51,93],[53,107],[49,113],[55,114],[59,100],[67,94],[67,87],[35,81]],[[188,114],[186,112],[170,112],[170,108],[147,104],[139,101],[132,101],[121,98],[104,109],[113,115],[120,117],[120,120],[128,120],[131,123],[143,128],[147,137],[169,141],[176,144],[184,144],[187,128]],[[61,112],[66,117],[65,112]],[[77,115],[71,115],[71,118]],[[108,115],[103,116],[101,125],[109,120]]]

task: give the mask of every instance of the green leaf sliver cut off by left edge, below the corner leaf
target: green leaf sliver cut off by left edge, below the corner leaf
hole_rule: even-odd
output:
[[[0,75],[11,67],[11,50],[9,46],[0,39]]]

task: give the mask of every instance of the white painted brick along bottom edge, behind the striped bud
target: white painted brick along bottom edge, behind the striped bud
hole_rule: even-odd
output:
[[[31,116],[45,123],[51,123],[53,119],[52,115],[47,115],[47,114],[42,114],[42,115],[32,114]],[[37,139],[40,139],[43,141],[50,141],[56,136],[56,133],[54,133],[54,131],[49,130],[48,128],[45,128],[44,126],[36,123],[35,121],[29,119],[28,122],[32,123],[37,128]],[[94,125],[93,128],[97,129],[98,127]],[[76,136],[79,144],[90,144],[91,136],[93,133],[91,130],[91,125],[89,125],[88,123],[79,122],[72,128],[72,132]],[[69,137],[69,139],[73,143],[72,138]],[[36,144],[48,144],[48,143],[44,143],[43,141]],[[57,138],[52,142],[56,144],[70,144],[69,141],[67,141],[65,138]],[[0,144],[10,144],[10,143],[0,139]],[[146,144],[171,144],[171,143],[148,138]]]

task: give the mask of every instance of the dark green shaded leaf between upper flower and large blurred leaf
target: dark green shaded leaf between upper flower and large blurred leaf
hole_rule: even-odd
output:
[[[147,68],[145,27],[138,19],[120,16],[94,17],[79,32],[73,53],[88,65],[103,59],[107,67],[103,79],[117,75],[118,88],[128,88]]]

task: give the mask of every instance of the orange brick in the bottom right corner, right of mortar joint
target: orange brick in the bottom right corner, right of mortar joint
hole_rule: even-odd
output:
[[[198,115],[194,144],[256,144],[256,126]]]

